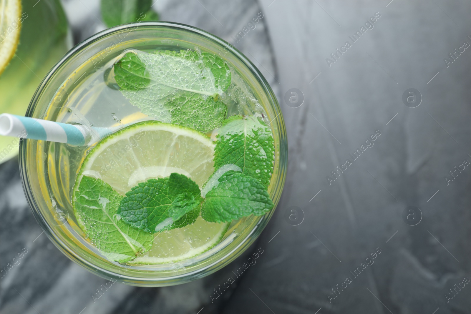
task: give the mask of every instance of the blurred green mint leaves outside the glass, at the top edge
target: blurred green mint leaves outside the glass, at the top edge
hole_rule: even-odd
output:
[[[157,21],[159,15],[152,11],[152,0],[101,0],[101,17],[106,26]]]

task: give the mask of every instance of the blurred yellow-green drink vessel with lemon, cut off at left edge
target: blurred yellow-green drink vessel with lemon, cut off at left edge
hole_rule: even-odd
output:
[[[24,115],[49,69],[72,47],[59,0],[0,1],[0,113]],[[0,137],[0,162],[18,153],[18,138]]]

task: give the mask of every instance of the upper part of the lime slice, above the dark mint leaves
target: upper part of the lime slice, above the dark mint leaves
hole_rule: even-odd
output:
[[[82,163],[82,175],[97,177],[124,195],[139,182],[183,174],[198,186],[214,172],[214,144],[194,129],[145,121],[104,138]]]

